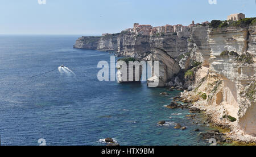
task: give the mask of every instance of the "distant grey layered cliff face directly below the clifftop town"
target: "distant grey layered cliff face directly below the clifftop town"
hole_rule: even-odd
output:
[[[115,51],[120,56],[138,57],[144,53],[163,49],[171,57],[188,52],[187,39],[190,32],[161,35],[142,35],[132,31],[108,34],[99,37],[85,36],[77,39],[74,48]]]

